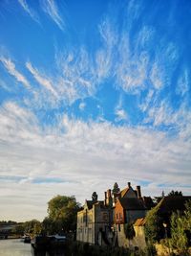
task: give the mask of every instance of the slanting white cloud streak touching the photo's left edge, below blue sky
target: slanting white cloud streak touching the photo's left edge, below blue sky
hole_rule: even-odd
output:
[[[26,87],[30,87],[30,82],[25,78],[22,73],[16,70],[15,64],[11,61],[10,58],[0,57],[0,61],[3,63],[11,76],[13,76],[17,81],[22,82]]]

